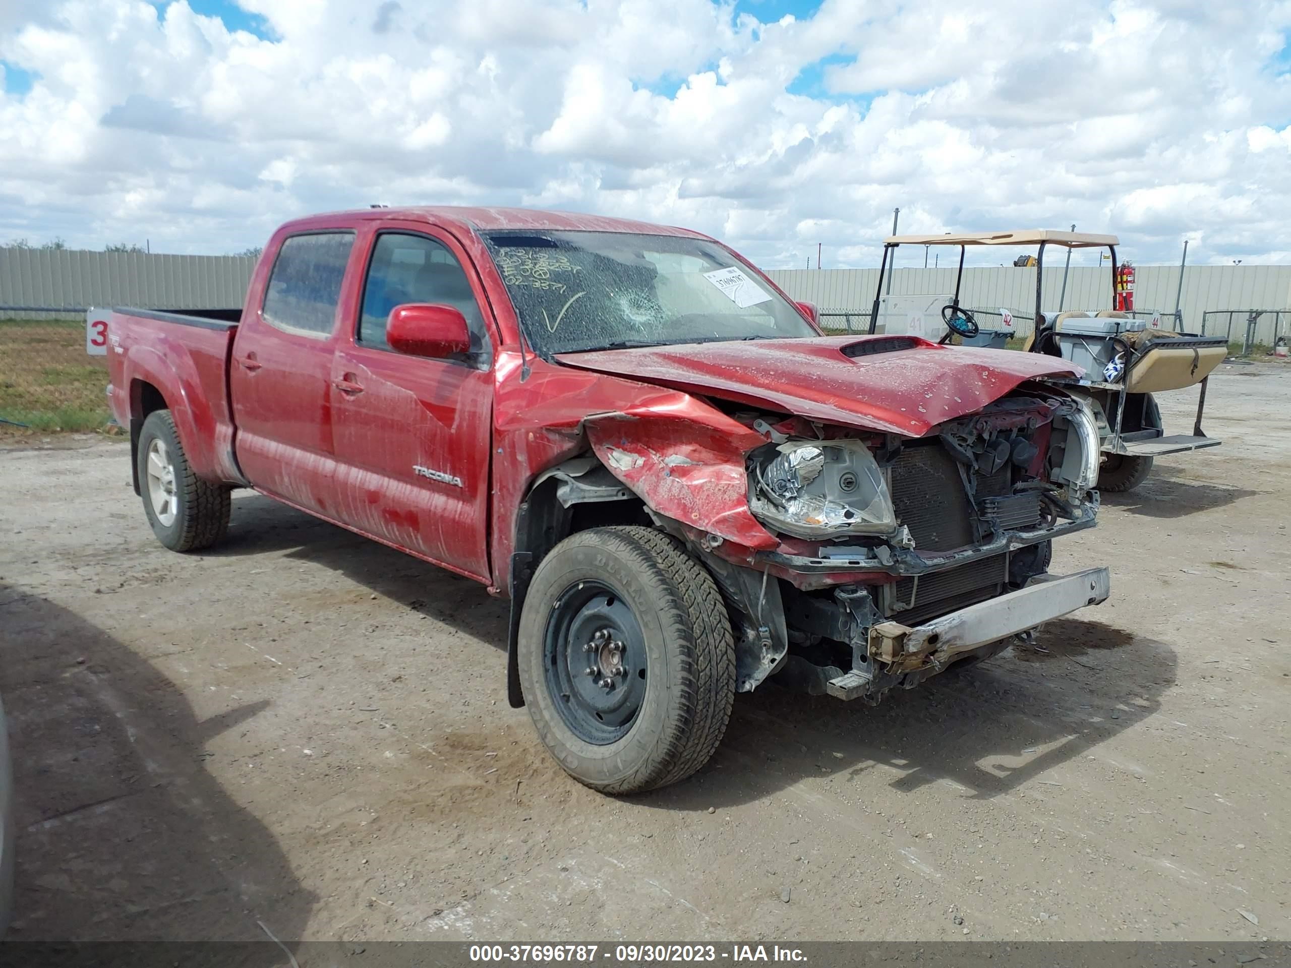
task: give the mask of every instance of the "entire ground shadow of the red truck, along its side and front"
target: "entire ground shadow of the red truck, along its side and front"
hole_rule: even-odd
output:
[[[478,583],[262,497],[235,505],[221,555],[289,550],[505,649],[507,603]],[[1082,613],[1083,614],[1083,613]],[[1091,616],[1099,614],[1091,612]],[[505,665],[496,653],[498,698]],[[661,809],[753,802],[804,778],[913,791],[948,781],[989,799],[1150,716],[1175,681],[1174,649],[1092,618],[1051,622],[1034,647],[955,666],[878,707],[768,684],[736,697],[726,738],[689,781],[642,798]],[[534,740],[536,745],[536,740]]]

